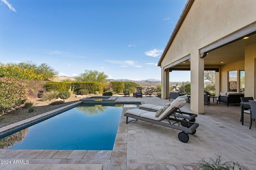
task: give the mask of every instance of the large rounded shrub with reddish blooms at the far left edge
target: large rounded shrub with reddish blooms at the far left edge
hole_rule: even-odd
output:
[[[0,112],[17,108],[24,104],[28,89],[12,78],[0,78]]]

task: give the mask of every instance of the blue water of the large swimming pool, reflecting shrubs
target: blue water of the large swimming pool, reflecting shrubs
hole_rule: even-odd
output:
[[[112,150],[123,106],[74,107],[1,139],[1,149]]]

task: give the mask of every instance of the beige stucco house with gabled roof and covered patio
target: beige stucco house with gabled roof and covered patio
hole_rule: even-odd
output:
[[[194,113],[204,113],[204,70],[216,71],[216,96],[234,91],[255,99],[256,1],[188,0],[158,66],[162,99],[169,72],[190,70]]]

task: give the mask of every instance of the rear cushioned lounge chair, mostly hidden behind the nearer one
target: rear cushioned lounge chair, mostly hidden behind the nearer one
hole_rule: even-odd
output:
[[[171,103],[168,103],[165,106],[170,106],[170,104]],[[154,104],[142,104],[142,105],[140,105],[139,109],[157,112],[162,107],[164,107],[164,106],[157,106],[157,105],[154,105]],[[175,113],[173,113],[173,116],[176,116],[178,118],[183,118],[184,120],[195,122],[197,114],[187,113],[187,112],[184,112],[184,111],[181,111],[180,109],[178,109]],[[182,123],[182,125],[186,126],[183,123]]]

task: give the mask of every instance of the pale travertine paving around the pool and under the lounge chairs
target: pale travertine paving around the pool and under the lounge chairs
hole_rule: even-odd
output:
[[[116,102],[142,102],[142,104],[164,105],[169,100],[157,97],[134,98],[118,96]],[[0,161],[29,162],[29,169],[45,164],[45,169],[58,169],[73,164],[74,169],[88,168],[96,164],[104,170],[196,170],[194,162],[204,158],[217,158],[239,162],[244,170],[256,169],[256,127],[249,129],[250,115],[244,115],[240,123],[240,106],[213,103],[204,105],[204,114],[196,117],[199,127],[196,134],[189,135],[188,143],[178,139],[180,131],[153,125],[143,121],[126,124],[123,108],[113,150],[0,150]],[[190,104],[182,107],[190,112]],[[100,125],[100,123],[99,123]],[[1,163],[0,162],[0,163]],[[40,164],[40,165],[38,165]],[[50,164],[50,165],[49,165]],[[58,165],[62,164],[62,165]],[[81,165],[81,164],[84,164]],[[52,166],[51,166],[52,165]],[[0,164],[0,169],[16,169]],[[70,166],[69,166],[70,167]],[[42,168],[43,169],[43,168]]]

